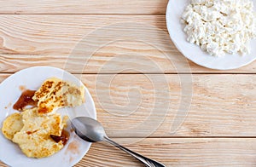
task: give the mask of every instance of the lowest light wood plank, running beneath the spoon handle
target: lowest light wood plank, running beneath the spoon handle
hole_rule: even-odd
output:
[[[114,139],[120,143],[133,139]],[[154,158],[166,166],[255,166],[254,138],[175,138],[144,139],[125,144],[132,150]],[[1,164],[1,166],[4,166]],[[117,148],[94,143],[75,167],[84,166],[143,166]]]

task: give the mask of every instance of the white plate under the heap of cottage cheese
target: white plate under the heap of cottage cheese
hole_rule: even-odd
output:
[[[251,41],[252,52],[250,55],[241,56],[236,54],[224,55],[223,57],[209,55],[194,43],[187,42],[187,35],[183,32],[184,26],[180,20],[183,10],[189,2],[190,0],[170,0],[166,10],[166,24],[172,42],[185,57],[198,65],[218,70],[230,70],[246,66],[256,59],[256,39]],[[253,0],[253,4],[255,11],[256,0]]]

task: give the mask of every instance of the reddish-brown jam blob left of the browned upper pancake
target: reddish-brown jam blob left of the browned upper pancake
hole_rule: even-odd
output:
[[[26,106],[36,107],[38,102],[32,100],[32,97],[34,96],[35,92],[36,90],[24,90],[20,95],[19,100],[15,102],[13,108],[21,112]]]

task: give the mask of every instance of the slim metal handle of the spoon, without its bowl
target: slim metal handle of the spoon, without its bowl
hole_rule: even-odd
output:
[[[164,164],[160,164],[159,162],[156,162],[150,158],[146,158],[143,155],[135,153],[135,152],[129,150],[128,148],[125,148],[125,147],[119,145],[117,142],[112,141],[111,139],[109,139],[106,136],[104,137],[104,141],[107,141],[108,143],[112,144],[115,147],[118,147],[119,149],[123,150],[124,152],[131,154],[131,156],[133,156],[134,158],[137,158],[139,161],[141,161],[143,164],[145,164],[148,167],[165,167]]]

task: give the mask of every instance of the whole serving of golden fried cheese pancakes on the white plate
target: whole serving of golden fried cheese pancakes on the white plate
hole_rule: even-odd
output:
[[[60,151],[68,140],[67,132],[64,133],[68,117],[62,118],[55,111],[61,107],[81,105],[84,102],[84,87],[59,78],[49,78],[31,99],[37,105],[20,107],[20,112],[3,121],[2,132],[7,139],[18,144],[27,157],[49,157]]]

